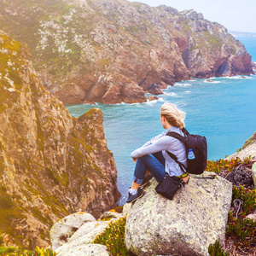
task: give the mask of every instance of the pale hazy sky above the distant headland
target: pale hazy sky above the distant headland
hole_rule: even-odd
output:
[[[194,9],[230,31],[256,32],[256,0],[137,0],[150,6],[165,4],[178,11]]]

